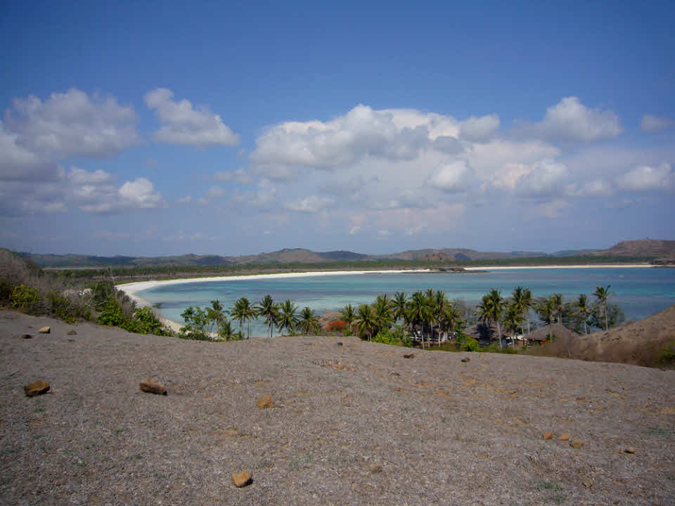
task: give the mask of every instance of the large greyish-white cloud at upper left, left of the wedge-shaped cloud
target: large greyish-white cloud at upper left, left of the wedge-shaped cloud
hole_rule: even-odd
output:
[[[5,122],[19,145],[44,160],[112,155],[139,141],[133,108],[74,88],[44,102],[36,96],[15,98]]]

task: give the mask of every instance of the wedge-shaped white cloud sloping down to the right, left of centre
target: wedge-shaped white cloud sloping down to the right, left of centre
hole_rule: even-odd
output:
[[[148,91],[145,96],[148,108],[155,110],[160,120],[160,129],[155,140],[167,144],[235,146],[239,134],[235,134],[223,119],[208,108],[195,108],[189,100],[174,100],[174,93],[165,88]]]

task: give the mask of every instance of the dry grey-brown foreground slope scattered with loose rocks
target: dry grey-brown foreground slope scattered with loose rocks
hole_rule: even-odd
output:
[[[0,503],[674,503],[675,372],[404,353],[353,337],[189,342],[0,311]],[[139,391],[148,378],[168,396]],[[38,379],[51,391],[27,398]],[[275,407],[257,408],[266,394]],[[235,488],[242,470],[253,484]]]

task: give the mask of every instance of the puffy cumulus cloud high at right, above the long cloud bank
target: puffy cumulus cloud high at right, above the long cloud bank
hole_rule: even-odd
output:
[[[612,110],[587,108],[575,96],[565,97],[546,109],[538,123],[522,123],[516,133],[551,141],[600,141],[623,131],[619,117]]]

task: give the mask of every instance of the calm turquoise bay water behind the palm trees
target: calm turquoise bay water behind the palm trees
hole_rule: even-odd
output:
[[[589,299],[596,286],[612,285],[615,294],[610,301],[621,306],[626,320],[638,320],[675,304],[675,268],[584,268],[584,269],[518,269],[489,273],[404,273],[324,275],[308,278],[210,281],[166,285],[137,292],[150,304],[161,304],[165,318],[181,323],[181,313],[188,306],[209,306],[219,299],[226,309],[234,301],[248,297],[256,303],[271,294],[275,301],[290,299],[302,309],[309,306],[317,314],[337,310],[347,304],[370,303],[378,294],[417,290],[442,290],[449,299],[465,299],[476,304],[491,288],[508,296],[513,288],[532,290],[534,297],[561,293],[565,299],[584,293]],[[262,323],[252,325],[252,334],[264,335]]]

